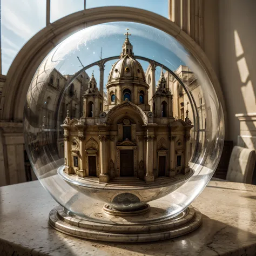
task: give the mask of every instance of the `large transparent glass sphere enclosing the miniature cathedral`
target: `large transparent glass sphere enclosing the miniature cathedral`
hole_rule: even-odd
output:
[[[133,87],[127,87],[122,95],[118,83],[131,84],[131,77],[143,90],[136,94]],[[93,95],[94,101],[88,95]],[[172,106],[167,102],[157,105],[159,95],[171,97]],[[113,109],[123,101],[143,112],[146,126],[163,126],[169,132],[149,138],[153,130],[146,131],[136,114],[134,120],[127,119],[127,113],[120,115],[120,138],[118,129],[104,130],[109,113],[114,116]],[[69,126],[72,120],[75,126]],[[119,120],[114,120],[118,126]],[[179,128],[175,122],[185,127],[182,139],[176,139],[175,129]],[[75,133],[77,138],[71,138]],[[169,194],[168,214],[172,216],[184,211],[213,176],[224,144],[224,117],[205,70],[175,38],[148,25],[114,22],[76,32],[45,57],[26,97],[24,134],[33,171],[66,210],[94,218],[90,209],[96,205],[133,210]],[[137,156],[132,158],[136,169],[133,178],[137,179],[125,178],[127,173],[118,179],[123,162],[117,167],[116,147],[124,145],[138,146]],[[153,166],[149,173],[151,157],[147,158],[147,152],[151,146]],[[106,150],[111,147],[114,150]],[[80,154],[86,159],[80,159]],[[131,159],[128,154],[126,157]],[[179,168],[185,165],[185,158],[190,167],[186,179],[186,172]],[[145,178],[148,174],[153,180]],[[165,182],[169,185],[159,185]],[[137,192],[142,198],[142,193],[151,193],[150,199],[136,196]]]

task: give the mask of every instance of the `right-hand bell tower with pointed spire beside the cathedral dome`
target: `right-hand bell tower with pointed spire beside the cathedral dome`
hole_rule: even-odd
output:
[[[167,88],[162,67],[160,78],[158,80],[157,91],[152,97],[154,117],[173,117],[172,97],[173,95],[169,91],[169,88]]]

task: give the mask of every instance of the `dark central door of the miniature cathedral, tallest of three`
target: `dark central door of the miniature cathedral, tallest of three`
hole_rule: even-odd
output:
[[[133,176],[133,150],[120,150],[120,177]]]

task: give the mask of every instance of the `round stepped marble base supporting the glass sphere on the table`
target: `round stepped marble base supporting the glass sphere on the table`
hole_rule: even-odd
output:
[[[172,218],[158,218],[155,221],[149,218],[148,221],[144,219],[143,223],[142,219],[143,215],[138,215],[132,218],[132,222],[119,217],[117,223],[96,223],[66,212],[62,206],[53,208],[49,214],[50,225],[53,228],[73,237],[136,243],[166,240],[190,233],[200,226],[201,213],[190,206]]]

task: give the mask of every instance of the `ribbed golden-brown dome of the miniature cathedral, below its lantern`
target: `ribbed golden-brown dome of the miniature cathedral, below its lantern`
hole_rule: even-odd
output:
[[[109,74],[108,82],[114,80],[141,80],[146,82],[145,73],[142,65],[132,55],[126,54],[120,58],[114,65]]]

